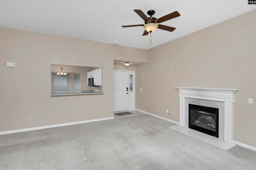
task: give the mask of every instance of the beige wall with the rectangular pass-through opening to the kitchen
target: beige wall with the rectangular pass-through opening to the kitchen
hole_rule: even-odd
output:
[[[0,131],[113,117],[114,59],[146,62],[147,51],[0,28]],[[50,64],[102,67],[104,94],[51,97]]]

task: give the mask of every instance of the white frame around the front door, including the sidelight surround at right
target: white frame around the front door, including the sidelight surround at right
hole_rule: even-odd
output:
[[[115,71],[122,71],[127,72],[129,74],[129,82],[130,82],[130,75],[132,75],[132,83],[133,83],[133,89],[132,92],[130,92],[130,86],[129,86],[129,94],[128,94],[128,111],[134,111],[135,110],[135,95],[136,95],[136,89],[135,89],[135,71],[131,70],[114,70]],[[113,73],[114,73],[113,72]],[[114,82],[113,82],[114,83]],[[129,83],[130,84],[130,83]],[[133,95],[131,95],[132,93]],[[124,111],[121,111],[124,112]],[[118,112],[115,112],[118,113]]]

